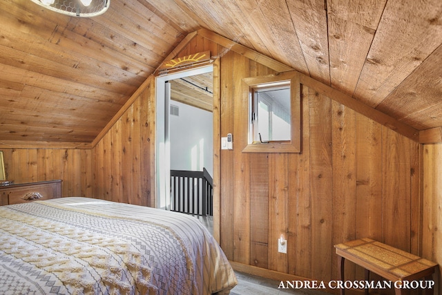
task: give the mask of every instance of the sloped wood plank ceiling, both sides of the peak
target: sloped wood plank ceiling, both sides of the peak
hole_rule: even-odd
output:
[[[206,28],[425,130],[442,126],[440,0],[111,0],[91,19],[0,1],[0,143],[92,142]]]

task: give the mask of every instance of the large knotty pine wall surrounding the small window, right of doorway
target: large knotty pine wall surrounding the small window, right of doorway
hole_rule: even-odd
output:
[[[222,54],[220,134],[233,133],[233,151],[220,151],[220,244],[227,257],[331,280],[338,278],[338,242],[368,236],[419,254],[420,144],[302,86],[302,153],[242,153],[241,79],[269,73],[243,55]],[[281,234],[288,254],[277,251]],[[363,278],[362,269],[347,269],[347,278]]]

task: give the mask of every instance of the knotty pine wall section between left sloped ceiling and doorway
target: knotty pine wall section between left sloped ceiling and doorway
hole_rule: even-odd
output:
[[[152,83],[143,84],[131,106],[93,146],[94,198],[155,207]]]

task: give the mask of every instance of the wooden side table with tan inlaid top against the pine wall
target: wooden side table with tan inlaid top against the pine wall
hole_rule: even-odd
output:
[[[334,245],[338,255],[338,267],[340,280],[344,281],[344,261],[345,259],[361,265],[365,268],[365,279],[369,279],[369,272],[374,272],[392,282],[404,282],[420,280],[425,278],[431,280],[437,263],[415,256],[408,252],[385,245],[370,238],[352,240],[342,244]],[[402,288],[394,284],[396,295],[400,295]],[[427,289],[428,294],[432,294],[433,289]],[[345,289],[340,289],[340,294],[344,295]],[[368,294],[368,289],[365,289]]]

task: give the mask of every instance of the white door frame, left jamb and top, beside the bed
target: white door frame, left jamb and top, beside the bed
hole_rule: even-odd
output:
[[[171,207],[171,149],[169,141],[170,86],[166,86],[166,82],[182,77],[210,73],[212,71],[213,65],[209,65],[155,77],[155,99],[157,106],[155,124],[155,191],[157,192],[157,208],[169,210]]]

